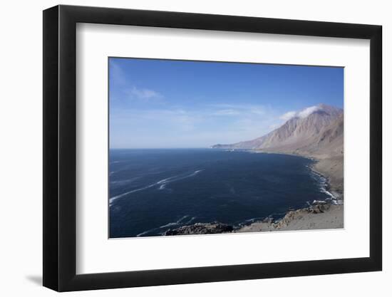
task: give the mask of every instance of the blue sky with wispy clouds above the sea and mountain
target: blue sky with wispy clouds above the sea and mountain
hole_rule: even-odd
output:
[[[343,108],[344,69],[109,58],[110,148],[251,140],[295,112]]]

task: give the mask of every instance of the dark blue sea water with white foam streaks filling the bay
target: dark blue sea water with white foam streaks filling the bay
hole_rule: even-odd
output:
[[[215,149],[110,150],[110,238],[242,224],[328,198],[311,160]]]

